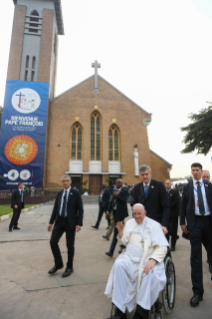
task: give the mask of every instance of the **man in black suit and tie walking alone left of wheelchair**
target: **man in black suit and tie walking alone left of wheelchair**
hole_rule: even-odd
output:
[[[68,277],[73,273],[74,242],[75,233],[81,230],[83,220],[83,204],[80,193],[71,187],[69,175],[62,177],[63,190],[57,194],[53,212],[48,225],[48,231],[52,230],[50,246],[54,256],[55,265],[49,270],[54,274],[58,269],[63,268],[63,260],[59,248],[59,240],[63,233],[66,233],[66,245],[68,248],[68,262],[62,277]]]

